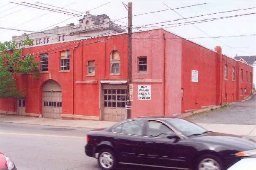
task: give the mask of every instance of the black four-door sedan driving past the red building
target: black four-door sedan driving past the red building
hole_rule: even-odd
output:
[[[184,170],[226,170],[242,158],[255,158],[254,140],[222,134],[179,117],[132,118],[87,132],[86,155],[100,168],[117,164]]]

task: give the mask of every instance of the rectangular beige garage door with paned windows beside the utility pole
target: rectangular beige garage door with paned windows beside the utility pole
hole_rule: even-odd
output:
[[[103,119],[106,121],[125,120],[127,89],[104,89]]]

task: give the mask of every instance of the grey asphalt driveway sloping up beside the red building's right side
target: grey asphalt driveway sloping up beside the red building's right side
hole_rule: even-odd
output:
[[[206,124],[256,124],[256,95],[250,100],[221,107],[213,111],[194,114],[187,119]]]

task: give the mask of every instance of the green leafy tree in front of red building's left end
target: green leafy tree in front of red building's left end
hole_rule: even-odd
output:
[[[31,46],[32,40],[20,41],[20,46]],[[15,41],[0,43],[0,99],[1,98],[25,98],[25,90],[17,90],[14,74],[32,75],[33,78],[40,77],[39,63],[35,63],[34,56],[28,53],[20,56],[21,49],[16,49]]]

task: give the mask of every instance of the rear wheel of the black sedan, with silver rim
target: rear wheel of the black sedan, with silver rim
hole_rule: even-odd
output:
[[[114,170],[117,166],[116,155],[110,149],[102,149],[99,151],[98,163],[102,170]]]

